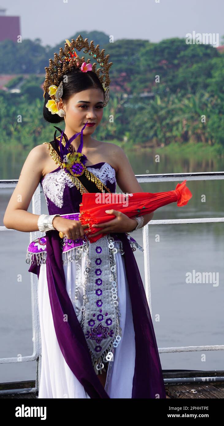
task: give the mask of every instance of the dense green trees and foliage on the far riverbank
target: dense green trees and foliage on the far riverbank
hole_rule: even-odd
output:
[[[217,49],[178,38],[108,43],[104,33],[81,34],[99,43],[113,62],[110,101],[95,138],[138,147],[171,142],[224,147],[224,55]],[[52,140],[55,129],[42,115],[42,84],[44,67],[63,44],[0,42],[0,73],[18,74],[8,91],[0,91],[1,146],[32,148]],[[10,92],[13,87],[20,93]]]

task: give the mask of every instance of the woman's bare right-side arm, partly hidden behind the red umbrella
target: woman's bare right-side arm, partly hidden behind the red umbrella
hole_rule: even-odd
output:
[[[122,192],[131,193],[131,194],[135,192],[144,192],[135,177],[135,173],[132,170],[132,166],[129,163],[129,160],[126,154],[120,147],[117,147],[116,158],[118,161],[118,171],[117,171],[116,181],[118,186],[121,188]],[[145,226],[146,223],[148,223],[152,219],[153,212],[147,213],[143,217],[144,217],[143,226]],[[135,221],[134,223],[136,226],[137,221],[135,219],[133,220]],[[133,229],[135,228],[135,226],[133,226]]]

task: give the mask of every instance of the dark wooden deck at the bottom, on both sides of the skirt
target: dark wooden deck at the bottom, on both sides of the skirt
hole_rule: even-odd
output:
[[[207,377],[223,377],[224,371],[186,371],[186,370],[165,370],[163,371],[164,379],[181,378],[181,377],[205,377],[202,383],[176,383],[165,384],[168,399],[224,399],[224,382],[207,381]],[[208,379],[209,380],[209,379]],[[0,390],[35,388],[35,380],[22,382],[0,383]],[[1,399],[38,399],[37,392],[21,393],[21,394],[4,394],[0,395]]]

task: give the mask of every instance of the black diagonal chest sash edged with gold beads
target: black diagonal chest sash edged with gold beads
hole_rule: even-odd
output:
[[[57,138],[58,139],[58,138]],[[64,144],[65,141],[62,141]],[[60,155],[57,153],[57,147],[55,144],[55,141],[51,142],[43,142],[43,144],[48,144],[48,150],[50,150],[49,155],[53,158],[55,161],[55,164],[58,164],[58,166],[61,167],[61,169],[64,168],[64,163],[61,161]],[[59,149],[59,147],[58,147]],[[70,151],[71,152],[71,151]],[[82,164],[82,163],[81,163]],[[80,193],[95,193],[95,192],[104,192],[105,193],[111,193],[109,188],[107,188],[101,180],[94,175],[94,173],[89,172],[87,167],[82,164],[83,166],[83,173],[80,176],[73,176],[71,173],[68,173],[69,178],[74,183],[74,185],[80,190]],[[68,169],[66,169],[68,170]]]

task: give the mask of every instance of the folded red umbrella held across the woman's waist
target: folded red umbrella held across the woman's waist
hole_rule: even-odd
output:
[[[186,187],[186,181],[177,184],[175,190],[167,192],[83,193],[82,203],[80,203],[80,223],[89,224],[88,231],[94,234],[103,228],[92,228],[93,224],[108,222],[116,217],[113,214],[105,213],[105,210],[118,210],[132,219],[135,216],[144,216],[175,201],[178,201],[178,207],[185,206],[192,197],[190,189]],[[95,242],[104,235],[106,233],[89,237],[89,242]]]

